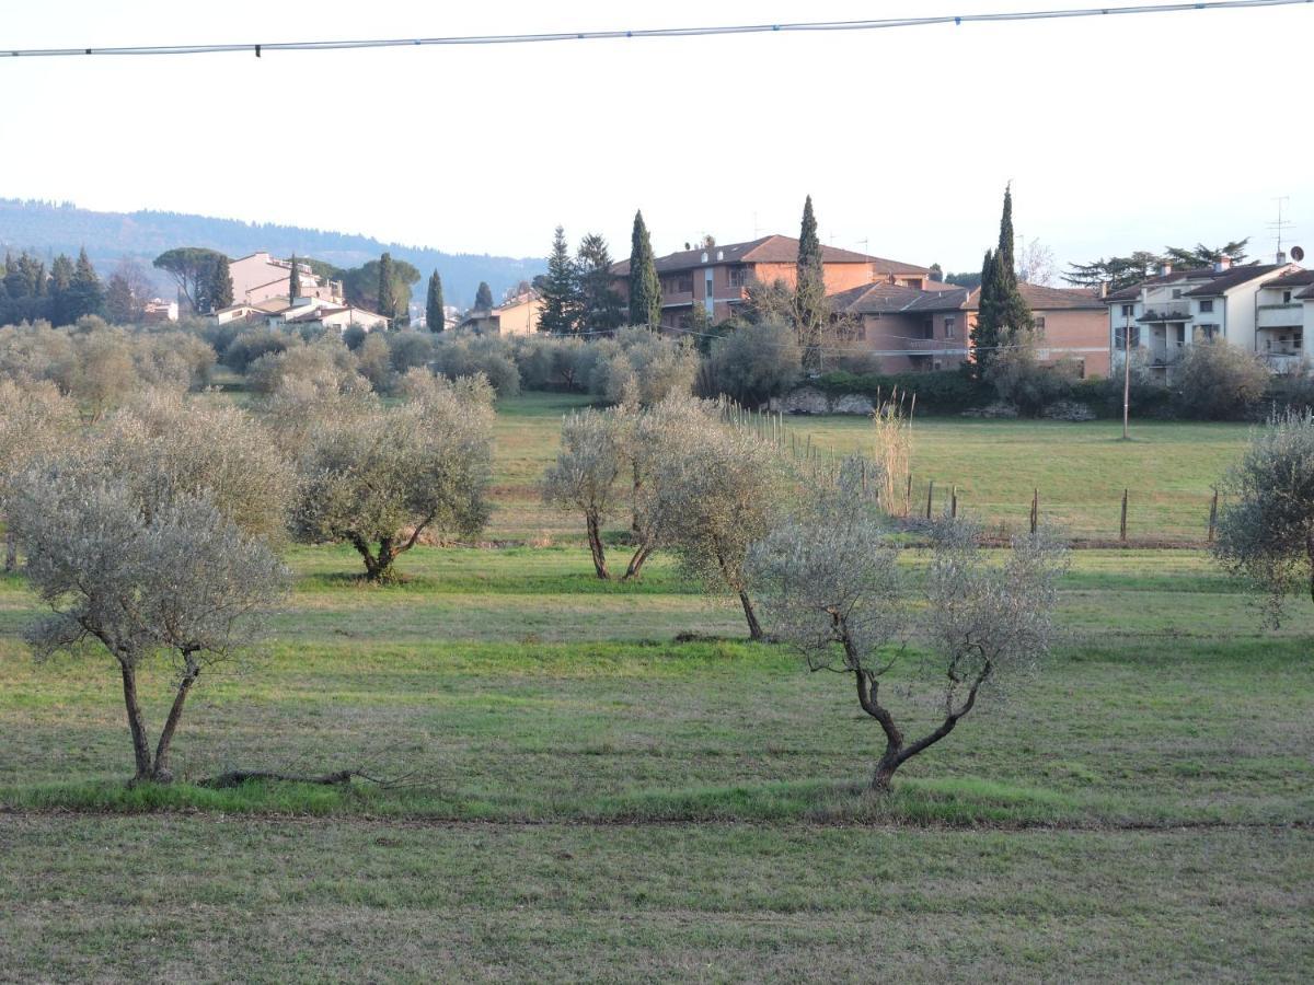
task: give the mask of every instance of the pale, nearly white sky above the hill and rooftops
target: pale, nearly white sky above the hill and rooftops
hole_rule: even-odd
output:
[[[474,4],[64,0],[0,49],[926,16],[1064,0]],[[8,4],[7,4],[8,7]],[[798,235],[975,269],[1004,183],[1060,261],[1252,238],[1314,247],[1314,5],[851,34],[134,59],[0,59],[0,196],[541,255]],[[1307,242],[1306,242],[1307,240]]]

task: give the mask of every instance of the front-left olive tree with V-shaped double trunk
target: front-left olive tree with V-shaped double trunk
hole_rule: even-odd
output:
[[[146,508],[134,483],[76,452],[24,473],[11,519],[28,579],[53,611],[28,633],[37,655],[104,647],[122,679],[134,781],[170,781],[170,749],[192,687],[259,638],[285,584],[283,565],[208,495]],[[154,750],[138,693],[151,658],[168,659],[176,672]]]

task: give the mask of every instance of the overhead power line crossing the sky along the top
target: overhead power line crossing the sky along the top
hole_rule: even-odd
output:
[[[277,41],[225,45],[127,45],[117,47],[5,49],[5,58],[67,58],[76,55],[212,55],[265,51],[344,51],[372,47],[414,47],[438,45],[532,45],[555,41],[612,41],[625,38],[702,38],[720,34],[769,34],[802,32],[855,32],[933,25],[1005,24],[1014,21],[1054,21],[1079,17],[1108,17],[1141,13],[1184,13],[1187,11],[1235,11],[1259,7],[1294,7],[1314,0],[1208,0],[1185,4],[1138,4],[1130,7],[1085,7],[1050,11],[1010,11],[1000,13],[937,14],[932,17],[886,17],[861,21],[795,21],[792,24],[737,24],[707,28],[648,28],[636,30],[577,30],[545,34],[466,34],[434,38],[361,38],[355,41]]]

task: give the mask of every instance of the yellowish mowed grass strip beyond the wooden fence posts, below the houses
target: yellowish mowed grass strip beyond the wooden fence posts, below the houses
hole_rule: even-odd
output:
[[[501,508],[489,536],[547,541],[577,536],[578,523],[539,503],[536,483],[556,456],[561,416],[585,406],[569,394],[524,394],[498,408]],[[795,443],[824,454],[871,453],[862,416],[786,419]],[[1122,491],[1129,490],[1129,537],[1202,541],[1213,487],[1244,448],[1246,424],[1134,422],[1122,441],[1121,422],[978,420],[917,418],[913,424],[913,500],[938,515],[957,486],[959,508],[995,528],[1021,529],[1033,491],[1041,515],[1074,537],[1117,538]]]

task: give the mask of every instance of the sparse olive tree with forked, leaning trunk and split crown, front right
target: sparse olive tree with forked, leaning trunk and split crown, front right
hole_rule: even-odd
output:
[[[1045,532],[1017,538],[1003,565],[989,563],[976,531],[946,520],[916,599],[882,515],[849,464],[836,490],[752,548],[746,567],[773,629],[808,667],[851,676],[859,707],[884,734],[871,777],[871,788],[883,792],[900,766],[954,730],[983,688],[1049,653],[1063,563],[1063,548]],[[904,733],[907,713],[896,717],[882,690],[904,658],[909,630],[925,649],[913,670],[940,709],[933,728],[916,737]]]

